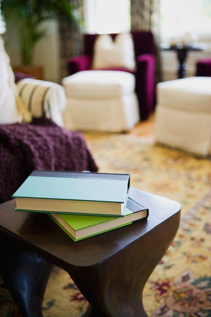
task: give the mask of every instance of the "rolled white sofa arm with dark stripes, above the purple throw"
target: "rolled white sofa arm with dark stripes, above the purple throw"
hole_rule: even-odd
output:
[[[45,116],[64,126],[65,89],[54,82],[24,78],[17,83],[19,94],[34,118]]]

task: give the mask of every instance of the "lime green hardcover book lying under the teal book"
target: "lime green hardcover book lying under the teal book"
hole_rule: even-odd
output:
[[[75,242],[146,219],[148,215],[149,210],[131,198],[127,200],[125,217],[48,214]]]

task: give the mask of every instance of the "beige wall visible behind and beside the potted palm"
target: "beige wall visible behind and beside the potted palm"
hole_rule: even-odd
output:
[[[33,64],[43,65],[45,80],[59,82],[60,45],[58,24],[56,21],[51,20],[43,23],[43,27],[47,29],[47,34],[35,46]],[[20,49],[17,36],[11,25],[7,25],[7,31],[3,38],[5,40],[5,49],[10,56],[11,65],[20,65]]]

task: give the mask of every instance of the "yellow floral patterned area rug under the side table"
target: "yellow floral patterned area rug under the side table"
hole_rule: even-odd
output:
[[[131,135],[86,135],[101,172],[130,173],[131,186],[182,204],[180,229],[144,289],[149,316],[211,316],[211,161],[154,146]],[[0,288],[0,316],[20,317]],[[44,317],[77,317],[87,301],[55,267],[43,301]]]

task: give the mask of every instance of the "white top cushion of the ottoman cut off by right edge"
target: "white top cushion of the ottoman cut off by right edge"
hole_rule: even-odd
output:
[[[158,103],[164,107],[211,113],[211,77],[189,77],[157,85]]]

